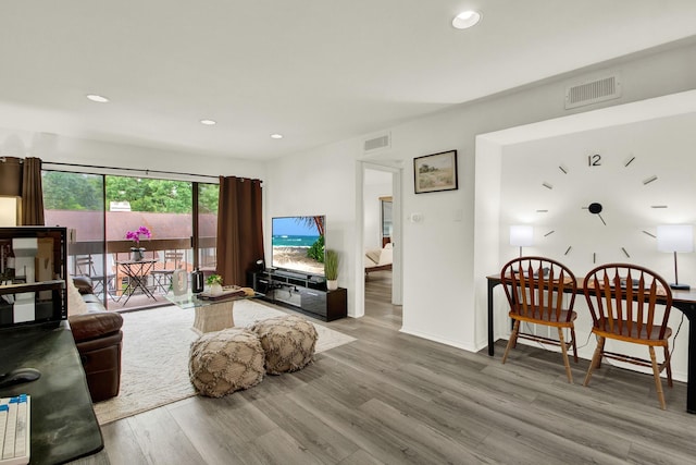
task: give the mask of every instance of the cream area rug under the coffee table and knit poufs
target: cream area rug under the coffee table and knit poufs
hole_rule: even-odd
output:
[[[235,302],[235,326],[285,315],[278,307],[253,301]],[[198,334],[191,329],[194,309],[176,306],[123,314],[121,391],[95,404],[100,425],[196,395],[188,380],[189,346]],[[316,353],[355,341],[355,338],[314,323]]]

